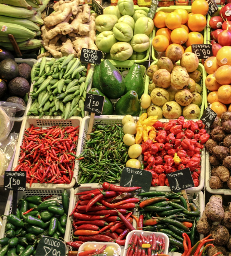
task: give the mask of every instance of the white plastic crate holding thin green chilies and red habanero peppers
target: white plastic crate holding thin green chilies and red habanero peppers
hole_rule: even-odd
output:
[[[94,119],[94,125],[101,122],[103,124],[114,124],[114,123],[122,123],[122,119],[124,116],[97,116]],[[134,117],[135,121],[139,120],[139,117]],[[90,116],[85,116],[82,119],[82,123],[80,126],[80,131],[79,131],[79,150],[82,151],[84,145],[85,145],[85,138],[87,135],[87,129],[88,129],[88,125],[89,125],[89,121],[90,121]],[[159,119],[159,121],[161,122],[168,122],[169,119]],[[187,121],[187,119],[185,119],[185,121]],[[194,119],[192,121],[198,121],[197,119]],[[77,173],[78,175],[78,173]],[[78,183],[78,180],[77,180]],[[201,154],[201,163],[200,163],[200,179],[199,179],[199,186],[198,187],[190,187],[188,189],[186,189],[187,191],[200,191],[203,189],[205,184],[205,149],[203,149],[202,154]],[[98,183],[86,183],[86,184],[81,184],[81,186],[84,186],[85,188],[90,188],[90,187],[94,187],[97,188],[98,187]],[[166,191],[169,192],[170,187],[168,186],[158,186],[158,187],[150,187],[151,191]]]

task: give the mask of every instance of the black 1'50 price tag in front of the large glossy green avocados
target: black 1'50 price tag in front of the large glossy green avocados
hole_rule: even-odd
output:
[[[102,114],[104,108],[104,96],[87,93],[84,103],[84,111]]]

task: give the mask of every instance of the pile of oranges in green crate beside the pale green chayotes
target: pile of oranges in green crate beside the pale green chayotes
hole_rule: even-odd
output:
[[[204,37],[200,32],[205,29],[208,8],[205,0],[196,0],[192,3],[191,13],[181,8],[174,12],[156,12],[153,21],[158,30],[153,38],[153,48],[167,53],[175,45],[184,53],[191,52],[193,44],[203,44]]]

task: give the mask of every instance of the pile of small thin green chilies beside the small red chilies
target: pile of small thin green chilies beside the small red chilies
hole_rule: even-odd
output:
[[[128,158],[122,124],[96,124],[85,142],[79,164],[78,184],[118,183]]]

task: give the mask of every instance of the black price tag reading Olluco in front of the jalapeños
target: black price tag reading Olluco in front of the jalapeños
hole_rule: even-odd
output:
[[[66,244],[53,237],[42,237],[36,248],[35,256],[65,256]]]

